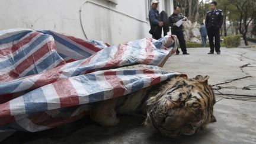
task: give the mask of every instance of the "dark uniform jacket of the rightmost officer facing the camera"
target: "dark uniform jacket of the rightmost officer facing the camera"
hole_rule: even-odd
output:
[[[208,11],[206,14],[206,28],[215,28],[216,30],[222,27],[223,15],[222,10],[215,9]]]

